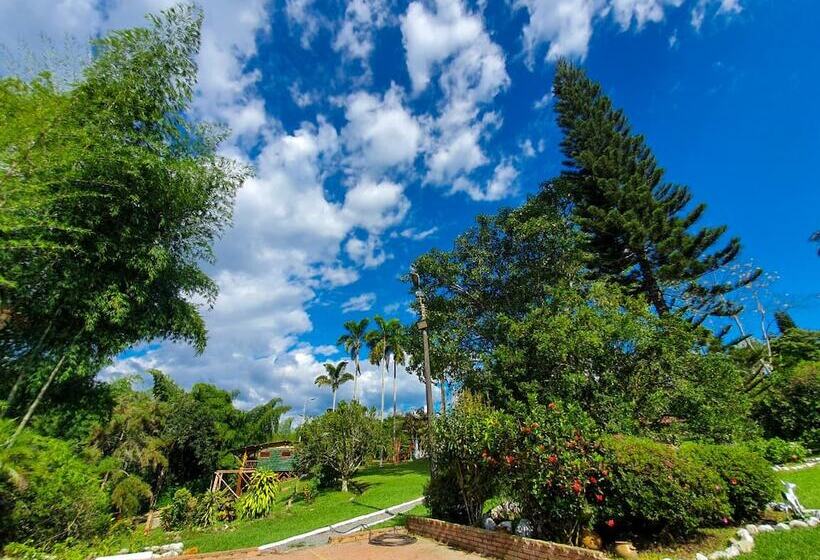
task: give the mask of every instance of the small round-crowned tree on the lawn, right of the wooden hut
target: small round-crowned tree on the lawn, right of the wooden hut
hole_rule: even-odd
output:
[[[342,492],[347,492],[356,471],[373,457],[381,425],[372,410],[342,402],[337,410],[311,419],[299,433],[300,468],[325,471],[339,482]]]

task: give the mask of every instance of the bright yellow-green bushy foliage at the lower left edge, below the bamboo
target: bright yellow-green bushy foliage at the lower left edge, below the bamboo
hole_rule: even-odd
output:
[[[15,424],[0,420],[0,441]],[[24,430],[0,449],[0,544],[88,539],[112,521],[97,469],[62,441]]]

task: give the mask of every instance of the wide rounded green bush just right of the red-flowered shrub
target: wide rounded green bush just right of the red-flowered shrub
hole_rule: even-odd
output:
[[[729,522],[726,488],[701,461],[645,438],[609,436],[602,444],[608,476],[597,526],[606,537],[671,540]]]

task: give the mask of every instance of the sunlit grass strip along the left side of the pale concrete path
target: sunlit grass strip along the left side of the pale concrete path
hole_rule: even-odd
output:
[[[181,540],[186,549],[196,547],[199,552],[256,547],[418,498],[428,477],[427,461],[370,467],[355,478],[355,486],[361,493],[322,491],[309,504],[297,497],[288,509],[293,485],[290,483],[283,489],[270,517],[236,521],[227,528],[177,533],[157,530],[150,535],[150,540],[157,543]]]

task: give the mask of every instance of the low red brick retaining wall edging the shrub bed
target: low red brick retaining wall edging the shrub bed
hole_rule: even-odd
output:
[[[607,560],[596,550],[539,541],[501,531],[458,525],[427,517],[408,517],[407,530],[454,548],[502,560]]]

